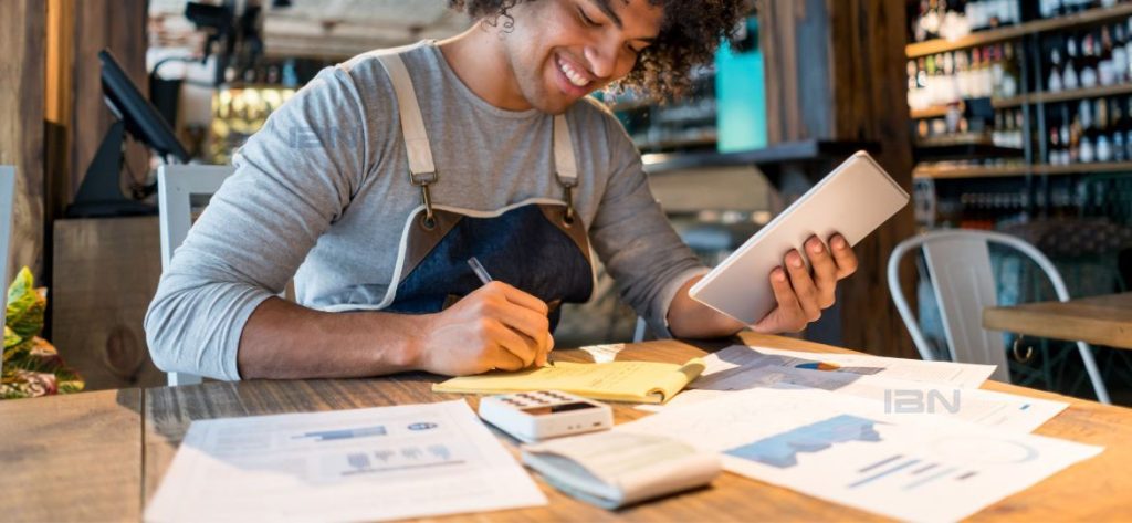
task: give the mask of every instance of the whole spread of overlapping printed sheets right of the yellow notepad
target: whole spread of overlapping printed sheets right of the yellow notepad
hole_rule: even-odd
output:
[[[1095,456],[1028,432],[1067,404],[981,391],[992,366],[731,346],[660,413],[723,468],[864,511],[953,521]]]

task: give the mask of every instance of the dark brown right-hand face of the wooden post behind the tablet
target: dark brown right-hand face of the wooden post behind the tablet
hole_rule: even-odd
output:
[[[911,194],[911,137],[908,129],[904,0],[829,0],[833,132],[838,139],[881,144],[876,160]],[[861,203],[867,205],[867,203]],[[911,337],[892,305],[886,281],[889,256],[915,233],[909,205],[856,248],[861,265],[842,284],[842,344],[916,358]],[[903,272],[903,289],[914,286]],[[906,292],[906,295],[909,293]]]

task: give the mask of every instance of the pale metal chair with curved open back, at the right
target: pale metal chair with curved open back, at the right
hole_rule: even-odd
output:
[[[921,248],[940,306],[947,357],[952,361],[994,365],[996,370],[992,378],[1010,383],[1002,336],[983,328],[983,309],[997,305],[989,243],[1013,248],[1029,257],[1049,277],[1057,299],[1069,301],[1065,282],[1049,258],[1023,240],[987,231],[935,231],[900,242],[889,257],[889,291],[920,357],[940,359],[920,331],[900,286],[900,260],[912,249]],[[1110,403],[1092,349],[1084,342],[1077,342],[1077,346],[1097,398]]]

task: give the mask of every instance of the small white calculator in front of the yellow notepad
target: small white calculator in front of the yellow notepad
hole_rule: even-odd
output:
[[[614,410],[559,391],[500,394],[480,400],[480,418],[524,443],[608,430]]]

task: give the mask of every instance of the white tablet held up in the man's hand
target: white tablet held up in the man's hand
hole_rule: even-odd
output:
[[[774,309],[770,274],[790,249],[798,249],[805,258],[803,247],[809,237],[829,241],[834,233],[855,246],[904,205],[908,192],[868,153],[857,153],[751,237],[688,294],[752,325]]]

